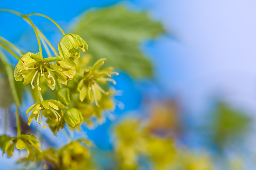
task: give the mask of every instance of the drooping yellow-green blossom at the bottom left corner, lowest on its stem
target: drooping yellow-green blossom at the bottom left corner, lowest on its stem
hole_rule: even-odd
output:
[[[31,134],[25,135],[22,134],[19,137],[13,137],[10,140],[6,141],[3,145],[3,154],[7,152],[7,156],[13,155],[14,146],[16,145],[16,148],[19,150],[27,149],[28,155],[29,155],[29,149],[28,147],[32,145],[37,150],[39,150],[39,143],[36,141],[37,138]]]

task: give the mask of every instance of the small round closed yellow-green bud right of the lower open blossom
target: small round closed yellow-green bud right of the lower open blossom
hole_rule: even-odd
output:
[[[79,127],[83,122],[83,117],[80,111],[76,108],[71,108],[64,114],[64,120],[71,127]]]

